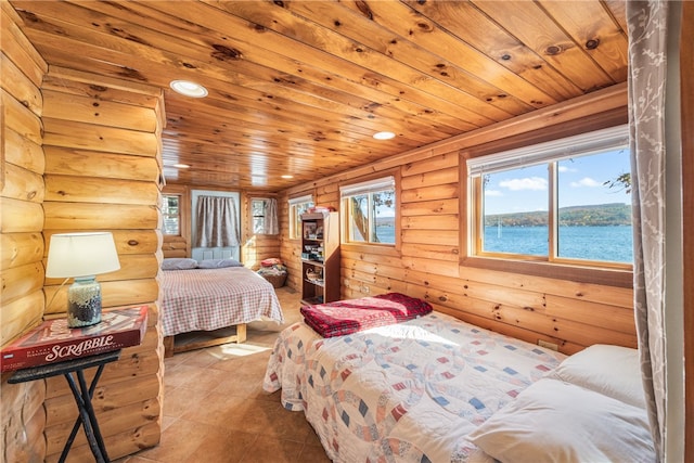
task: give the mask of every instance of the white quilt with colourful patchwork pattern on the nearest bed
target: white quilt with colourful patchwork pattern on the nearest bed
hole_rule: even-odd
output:
[[[295,323],[264,388],[335,462],[490,461],[465,436],[564,358],[439,312],[330,338]]]

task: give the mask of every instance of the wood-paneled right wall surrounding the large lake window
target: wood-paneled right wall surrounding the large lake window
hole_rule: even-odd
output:
[[[626,87],[602,90],[528,116],[373,163],[282,192],[282,201],[312,192],[314,203],[339,209],[339,185],[397,170],[400,247],[343,245],[345,298],[402,292],[435,309],[530,343],[573,353],[595,344],[635,347],[630,278],[579,282],[557,275],[472,267],[466,256],[465,155],[595,130],[627,119]],[[288,207],[281,207],[282,223]],[[299,243],[283,232],[288,284],[298,288]],[[296,262],[296,263],[295,263]],[[545,272],[547,273],[547,272]],[[550,278],[552,276],[552,278]],[[629,275],[627,275],[629,276]],[[612,281],[614,283],[611,283]]]

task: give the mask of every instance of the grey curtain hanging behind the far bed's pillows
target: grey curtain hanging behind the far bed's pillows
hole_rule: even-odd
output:
[[[198,196],[195,247],[239,246],[236,202],[228,196]]]

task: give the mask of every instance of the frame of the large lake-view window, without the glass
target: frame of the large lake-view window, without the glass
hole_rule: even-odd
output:
[[[500,266],[496,262],[506,262],[513,268],[534,268],[530,273],[552,275],[552,269],[564,267],[566,269],[584,269],[590,274],[593,271],[611,271],[620,274],[618,280],[626,283],[624,275],[631,275],[633,265],[626,262],[600,261],[589,259],[577,259],[557,256],[557,164],[561,160],[600,154],[616,149],[629,147],[629,128],[627,125],[619,125],[607,129],[601,129],[571,137],[566,137],[549,142],[542,142],[513,149],[500,153],[488,154],[466,159],[466,191],[467,198],[461,204],[467,204],[467,227],[463,245],[467,249],[466,255],[461,259],[461,265],[472,265],[473,267],[484,267],[497,269]],[[483,249],[484,234],[484,175],[513,170],[531,165],[548,166],[548,255],[535,256],[520,253],[499,253],[485,252]],[[541,267],[550,269],[539,270]],[[560,270],[562,273],[563,270]],[[590,278],[592,281],[593,279]]]

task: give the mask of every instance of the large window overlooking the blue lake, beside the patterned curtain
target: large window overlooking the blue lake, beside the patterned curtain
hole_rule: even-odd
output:
[[[628,137],[620,126],[468,159],[472,254],[630,266]]]

